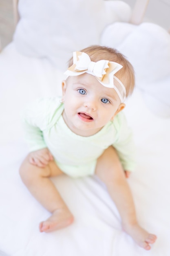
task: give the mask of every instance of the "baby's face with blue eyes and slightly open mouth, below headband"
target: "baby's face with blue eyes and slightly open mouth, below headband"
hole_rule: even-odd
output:
[[[95,76],[70,76],[62,83],[67,126],[76,134],[91,136],[124,108],[113,88],[104,87]]]

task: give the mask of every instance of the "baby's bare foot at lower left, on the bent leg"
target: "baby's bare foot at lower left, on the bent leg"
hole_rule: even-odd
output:
[[[51,232],[62,229],[73,223],[73,215],[67,208],[61,208],[53,211],[50,218],[39,225],[40,232]]]

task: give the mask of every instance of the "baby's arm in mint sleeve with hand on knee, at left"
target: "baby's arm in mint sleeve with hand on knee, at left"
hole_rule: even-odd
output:
[[[60,105],[58,98],[40,98],[30,103],[23,112],[24,137],[30,151],[28,159],[35,166],[45,167],[49,161],[53,161],[44,140],[44,130],[51,125],[54,113]]]

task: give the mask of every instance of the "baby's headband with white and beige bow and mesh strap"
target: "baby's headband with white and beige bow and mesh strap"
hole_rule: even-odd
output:
[[[123,83],[114,75],[122,67],[122,65],[113,61],[100,60],[93,62],[85,52],[73,52],[73,65],[68,67],[64,74],[68,76],[91,74],[103,86],[114,88],[122,103],[126,99],[126,89]]]

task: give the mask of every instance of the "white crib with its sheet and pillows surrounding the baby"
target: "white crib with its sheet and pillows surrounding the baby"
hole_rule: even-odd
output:
[[[123,1],[13,0],[16,29],[0,53],[0,256],[170,255],[170,34],[144,21],[148,3],[137,0],[132,9]],[[40,233],[39,222],[50,213],[19,176],[28,153],[22,109],[38,97],[60,95],[71,53],[92,44],[117,48],[135,68],[135,92],[124,110],[137,148],[128,183],[139,223],[158,237],[150,251],[122,230],[95,176],[52,179],[75,221]]]

